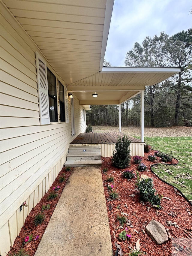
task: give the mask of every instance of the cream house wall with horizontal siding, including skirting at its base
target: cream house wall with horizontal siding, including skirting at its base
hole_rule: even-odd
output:
[[[70,101],[69,123],[40,125],[35,51],[44,56],[1,2],[0,10],[0,254],[4,256],[62,169],[73,137]],[[47,67],[65,86],[48,61]],[[78,135],[85,131],[86,121],[73,96]],[[25,201],[28,207],[20,212]]]

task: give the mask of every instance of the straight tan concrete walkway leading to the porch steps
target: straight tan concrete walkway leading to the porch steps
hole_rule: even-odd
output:
[[[100,167],[75,167],[35,256],[112,256]]]

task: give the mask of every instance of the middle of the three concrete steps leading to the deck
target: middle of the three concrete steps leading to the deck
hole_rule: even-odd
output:
[[[101,152],[75,152],[68,153],[67,160],[100,160]]]

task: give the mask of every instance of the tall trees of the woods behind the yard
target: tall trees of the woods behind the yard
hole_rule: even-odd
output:
[[[104,61],[104,66],[111,66]],[[181,72],[145,90],[145,126],[192,126],[192,29],[171,37],[164,32],[146,37],[127,52],[125,66],[179,67]],[[91,106],[91,125],[119,125],[119,106]],[[122,126],[140,126],[140,95],[121,104]]]

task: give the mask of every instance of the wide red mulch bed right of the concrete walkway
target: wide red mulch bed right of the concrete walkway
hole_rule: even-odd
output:
[[[130,248],[134,248],[136,245],[135,243],[138,241],[138,239],[140,239],[140,251],[146,252],[147,255],[171,256],[170,239],[167,243],[156,245],[156,243],[152,241],[147,233],[142,233],[142,230],[145,230],[145,226],[152,219],[159,221],[164,225],[165,228],[168,228],[172,237],[192,238],[192,220],[190,213],[187,212],[187,209],[191,209],[191,206],[182,196],[176,194],[172,186],[162,182],[155,174],[150,171],[150,165],[154,163],[148,161],[147,159],[148,155],[153,155],[154,152],[155,150],[150,150],[149,153],[145,153],[142,163],[148,166],[148,170],[140,172],[140,174],[142,173],[152,177],[153,184],[158,194],[164,195],[164,197],[169,197],[171,199],[168,200],[163,198],[161,200],[162,209],[159,209],[158,212],[156,212],[155,208],[150,208],[148,212],[146,206],[150,207],[151,204],[145,202],[145,205],[143,206],[142,203],[140,203],[141,200],[139,192],[137,191],[137,186],[135,185],[136,178],[132,180],[125,179],[122,176],[122,172],[124,170],[113,167],[111,164],[111,157],[102,158],[103,164],[101,170],[108,168],[107,176],[114,177],[114,182],[106,182],[107,176],[102,173],[114,255],[117,249],[115,242],[121,246],[123,253],[128,254],[131,251]],[[157,157],[157,161],[155,163],[161,163],[161,158]],[[178,161],[173,159],[171,163],[176,164]],[[136,174],[137,166],[138,164],[135,164],[133,159],[131,159],[131,166],[127,169],[134,170],[134,173]],[[120,200],[116,199],[112,202],[107,201],[107,197],[109,198],[107,190],[108,185],[113,185],[113,189],[116,189]],[[135,196],[130,197],[131,194],[135,194]],[[177,215],[175,217],[168,215],[168,213],[171,213],[171,211],[176,212]],[[125,217],[132,221],[133,227],[127,226],[127,233],[131,235],[131,239],[129,241],[119,240],[119,233],[125,230],[126,227],[126,224],[124,224],[123,229],[116,229],[116,227],[119,226],[117,215],[121,215],[121,212],[127,213],[128,215],[125,215]],[[175,226],[168,226],[166,220],[176,222],[179,228]],[[182,253],[184,253],[184,251],[182,251]]]

